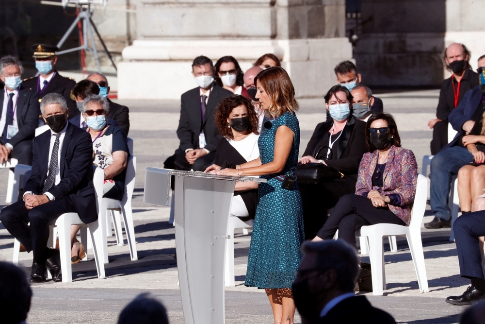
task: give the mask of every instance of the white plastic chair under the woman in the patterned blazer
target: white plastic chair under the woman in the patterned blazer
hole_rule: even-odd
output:
[[[424,254],[421,242],[421,222],[426,209],[427,178],[419,174],[416,186],[416,197],[411,209],[409,226],[396,224],[375,224],[362,226],[356,236],[367,237],[369,242],[369,257],[372,265],[372,294],[382,295],[386,289],[386,273],[384,269],[384,248],[382,239],[388,236],[405,236],[414,261],[414,268],[418,276],[420,292],[428,292],[428,280],[424,264]]]

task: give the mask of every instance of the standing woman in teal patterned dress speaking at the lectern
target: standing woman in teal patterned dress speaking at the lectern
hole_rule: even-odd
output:
[[[291,285],[304,241],[302,200],[296,182],[292,189],[281,185],[285,177],[294,175],[298,162],[300,126],[295,116],[298,102],[283,68],[261,71],[254,81],[258,89],[256,98],[270,117],[259,136],[259,158],[236,166],[237,170],[218,170],[217,166],[209,169],[217,174],[259,175],[268,180],[259,184],[244,284],[266,290],[275,323],[293,324],[295,305]]]

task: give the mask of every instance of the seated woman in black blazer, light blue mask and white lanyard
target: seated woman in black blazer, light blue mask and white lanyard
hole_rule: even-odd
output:
[[[356,191],[357,172],[365,146],[365,122],[352,116],[352,95],[335,85],[325,95],[332,119],[317,125],[299,162],[320,162],[344,174],[342,179],[319,184],[299,183],[303,198],[305,239],[313,239],[327,219],[327,209]],[[331,148],[330,148],[331,147]]]

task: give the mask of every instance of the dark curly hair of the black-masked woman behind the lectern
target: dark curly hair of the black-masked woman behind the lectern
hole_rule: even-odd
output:
[[[216,113],[214,123],[219,130],[219,134],[227,139],[234,139],[231,128],[227,127],[227,118],[229,118],[229,114],[232,112],[232,109],[241,105],[246,106],[247,114],[251,120],[251,125],[249,126],[248,131],[250,133],[259,134],[259,118],[256,114],[256,110],[254,109],[251,99],[247,99],[246,97],[240,95],[232,95],[221,100],[215,108]]]

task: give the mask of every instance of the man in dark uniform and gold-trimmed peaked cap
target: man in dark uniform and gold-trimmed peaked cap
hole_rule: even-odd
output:
[[[40,74],[30,79],[25,79],[22,85],[37,92],[39,102],[48,93],[60,94],[64,97],[67,108],[69,108],[69,117],[80,115],[81,113],[76,109],[76,102],[71,99],[71,90],[76,85],[76,82],[71,78],[63,77],[54,69],[57,63],[56,51],[59,51],[57,46],[35,44],[32,45],[32,50],[34,51],[32,57],[35,59],[35,68]]]

